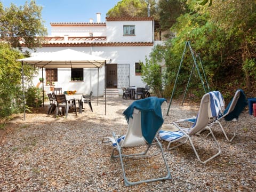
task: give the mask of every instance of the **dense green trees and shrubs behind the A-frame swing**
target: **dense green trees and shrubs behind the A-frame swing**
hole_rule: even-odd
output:
[[[231,91],[229,92],[228,87],[237,89],[246,84],[247,91],[250,91],[248,82],[252,82],[252,78],[255,81],[256,71],[256,2],[216,1],[210,7],[200,5],[197,0],[188,0],[186,3],[186,11],[177,18],[170,29],[175,31],[177,36],[169,39],[161,51],[154,49],[154,53],[151,53],[159,55],[165,61],[168,82],[166,85],[173,86],[185,42],[190,41],[194,52],[201,58],[207,82],[212,90],[223,90],[223,94],[229,94]],[[187,49],[176,94],[183,93],[192,66],[193,59]],[[244,73],[241,73],[241,70]],[[198,92],[201,86],[197,74],[193,74],[191,89]],[[170,86],[167,88],[170,89]]]

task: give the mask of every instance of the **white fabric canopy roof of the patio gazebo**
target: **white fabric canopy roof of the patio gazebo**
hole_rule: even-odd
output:
[[[39,68],[101,68],[106,59],[83,52],[66,49],[56,52],[39,53],[34,57],[18,61],[35,65]]]

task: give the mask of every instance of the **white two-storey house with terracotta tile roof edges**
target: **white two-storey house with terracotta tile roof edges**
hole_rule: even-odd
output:
[[[144,87],[139,62],[145,62],[155,43],[153,17],[106,18],[106,22],[100,19],[97,13],[97,22],[51,23],[51,36],[45,37],[43,46],[31,55],[65,49],[96,55],[108,60],[107,88],[118,89],[121,94],[122,86]],[[55,87],[62,87],[63,91],[97,93],[97,69],[43,69],[43,74],[46,89],[47,82],[55,82]],[[41,76],[42,71],[35,77],[35,85]],[[104,77],[105,69],[100,68],[99,95],[104,93]]]

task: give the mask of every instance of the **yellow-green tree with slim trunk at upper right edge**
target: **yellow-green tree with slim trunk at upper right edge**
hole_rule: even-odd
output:
[[[209,10],[211,21],[225,31],[228,38],[227,59],[244,70],[246,87],[251,91],[252,78],[255,78],[252,71],[255,71],[256,58],[256,1],[216,1]]]

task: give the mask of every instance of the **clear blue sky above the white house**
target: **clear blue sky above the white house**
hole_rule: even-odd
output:
[[[4,7],[11,3],[22,6],[26,0],[0,0]],[[27,0],[30,2],[30,0]],[[106,21],[106,13],[121,0],[36,0],[43,7],[42,19],[51,35],[50,22],[93,22],[97,21],[96,13],[101,13],[101,22]]]

